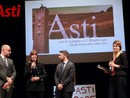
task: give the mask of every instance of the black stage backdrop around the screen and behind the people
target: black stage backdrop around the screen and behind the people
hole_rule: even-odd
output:
[[[123,0],[124,11],[124,27],[126,37],[126,53],[128,61],[130,60],[129,42],[129,5],[128,0]],[[0,46],[9,44],[12,48],[11,58],[14,60],[17,77],[15,80],[15,89],[13,98],[26,98],[25,81],[24,81],[24,66],[25,66],[25,5],[24,0],[1,0],[0,5],[10,7],[13,5],[21,5],[21,13],[19,17],[2,17],[0,16]],[[119,22],[120,23],[120,22]],[[96,98],[107,98],[108,80],[109,77],[99,69],[97,65],[107,66],[108,62],[91,62],[91,63],[76,63],[76,84],[96,84]],[[45,80],[46,98],[53,98],[54,72],[56,64],[45,65],[48,77]]]

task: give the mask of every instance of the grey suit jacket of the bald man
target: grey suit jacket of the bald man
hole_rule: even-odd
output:
[[[13,63],[13,60],[7,58],[8,67],[6,67],[6,63],[3,58],[0,56],[0,88],[4,85],[7,77],[13,77],[14,80],[16,77],[16,70]],[[14,84],[12,84],[14,87]]]

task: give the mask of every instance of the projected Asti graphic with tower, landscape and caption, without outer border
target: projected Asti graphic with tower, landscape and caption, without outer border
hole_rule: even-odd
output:
[[[93,46],[101,48],[107,45],[107,37],[114,36],[112,6],[51,9],[41,6],[33,9],[33,17],[33,48],[39,53],[57,54],[61,49],[92,53]]]

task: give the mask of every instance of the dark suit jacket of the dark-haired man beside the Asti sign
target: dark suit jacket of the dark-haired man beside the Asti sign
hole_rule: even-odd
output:
[[[74,63],[68,61],[65,65],[64,71],[62,73],[61,69],[62,63],[57,65],[54,80],[56,87],[59,83],[63,83],[63,90],[65,92],[73,92],[74,89],[74,78],[75,78],[75,65]]]

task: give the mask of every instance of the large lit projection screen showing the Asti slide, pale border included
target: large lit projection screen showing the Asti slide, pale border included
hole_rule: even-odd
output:
[[[57,63],[59,50],[77,63],[107,61],[115,39],[125,51],[121,0],[25,1],[25,12],[27,59],[36,49],[47,64]]]

